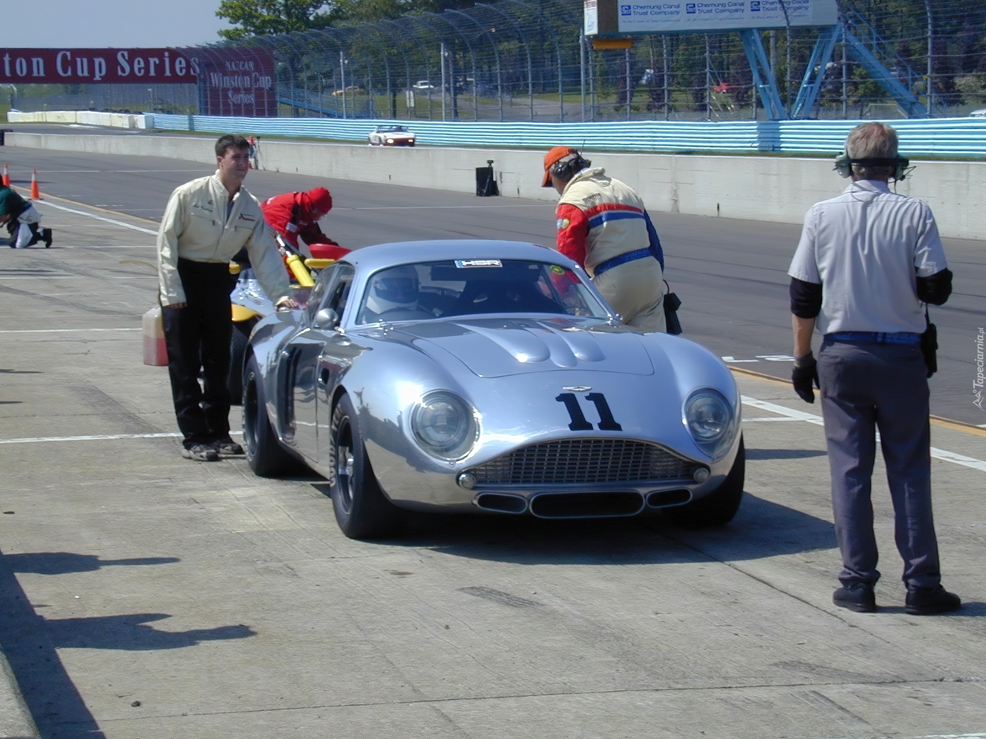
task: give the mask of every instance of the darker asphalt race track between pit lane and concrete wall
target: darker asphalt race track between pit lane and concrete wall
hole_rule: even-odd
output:
[[[35,129],[91,132],[68,126],[18,127]],[[5,147],[0,157],[10,164],[16,185],[27,186],[31,169],[36,168],[42,192],[155,222],[178,184],[213,171],[176,160],[17,147]],[[536,176],[531,172],[531,177]],[[285,172],[253,171],[246,180],[247,188],[261,199],[319,185],[328,187],[334,200],[322,229],[349,247],[428,238],[554,242],[554,209],[545,201],[476,198],[472,193]],[[666,278],[683,302],[679,316],[685,336],[731,358],[727,362],[735,367],[789,377],[787,269],[801,228],[669,213],[653,216],[667,257]],[[972,383],[975,337],[986,322],[986,243],[950,238],[945,244],[955,275],[954,292],[948,303],[931,308],[940,344],[939,372],[930,380],[932,414],[984,425],[986,412],[973,403]],[[817,345],[815,338],[815,349]]]

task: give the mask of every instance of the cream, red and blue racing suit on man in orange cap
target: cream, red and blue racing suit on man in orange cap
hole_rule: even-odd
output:
[[[558,250],[586,268],[623,323],[667,330],[664,251],[640,195],[587,168],[565,186],[556,215]]]

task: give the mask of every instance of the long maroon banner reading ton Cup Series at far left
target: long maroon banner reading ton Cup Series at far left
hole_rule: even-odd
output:
[[[173,48],[0,48],[0,84],[194,85],[195,60]]]

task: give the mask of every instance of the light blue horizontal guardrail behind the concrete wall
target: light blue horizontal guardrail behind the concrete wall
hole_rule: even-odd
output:
[[[860,120],[749,122],[633,121],[629,123],[499,123],[432,120],[340,120],[337,118],[238,118],[207,115],[154,116],[154,127],[367,141],[378,125],[407,126],[418,141],[434,146],[491,146],[546,149],[559,144],[634,152],[780,152],[831,154],[842,149]],[[986,156],[986,118],[887,120],[908,155]]]

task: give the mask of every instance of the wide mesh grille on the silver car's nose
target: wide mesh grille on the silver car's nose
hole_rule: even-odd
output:
[[[526,446],[466,471],[479,485],[560,485],[681,480],[694,466],[644,441],[573,438]]]

